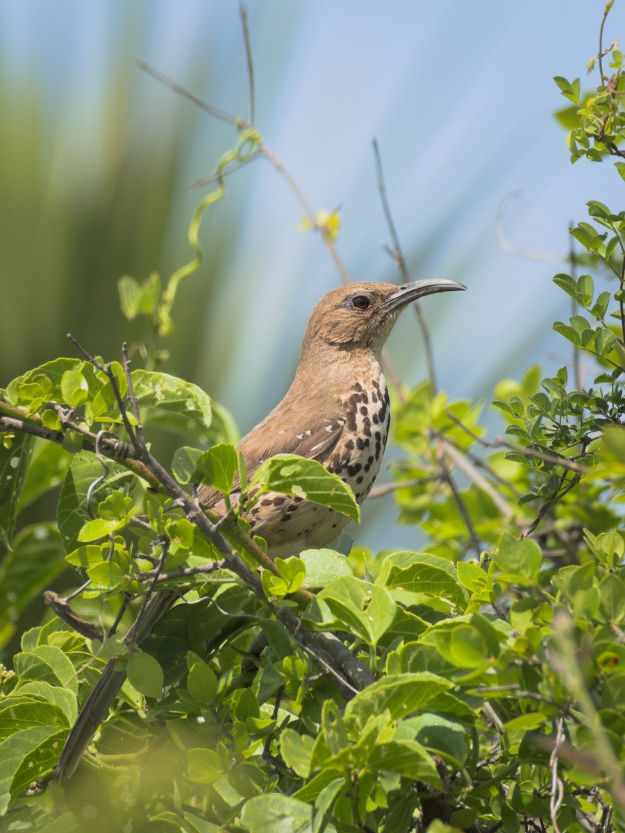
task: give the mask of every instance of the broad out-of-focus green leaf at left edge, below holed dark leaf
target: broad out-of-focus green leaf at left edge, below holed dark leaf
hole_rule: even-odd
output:
[[[13,550],[0,562],[0,646],[16,630],[18,618],[65,569],[61,536],[49,523],[26,526]]]

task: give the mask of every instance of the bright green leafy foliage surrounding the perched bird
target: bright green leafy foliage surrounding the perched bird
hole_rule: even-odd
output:
[[[622,155],[621,67],[613,48],[588,97],[556,79],[573,161]],[[625,212],[592,201],[571,229],[584,252],[553,278],[573,305],[553,327],[572,371],[503,380],[502,437],[428,383],[398,407],[400,521],[423,551],[272,560],[243,510],[280,492],[358,521],[352,491],[297,456],[248,478],[228,413],[153,370],[203,211],[258,153],[237,128],[193,261],[164,291],[155,273],[119,282],[124,314],[150,322],[147,367],[57,358],[0,392],[0,644],[67,565],[76,585],[0,666],[0,815],[49,831],[622,830]],[[179,447],[171,476],[154,427],[209,447]],[[225,517],[198,511],[198,483]],[[56,522],[24,525],[48,491]],[[109,660],[126,681],[63,794],[53,768]]]

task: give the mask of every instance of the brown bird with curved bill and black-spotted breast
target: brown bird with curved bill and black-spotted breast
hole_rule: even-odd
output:
[[[308,457],[348,483],[362,504],[378,475],[388,441],[391,412],[382,362],[388,335],[400,312],[412,302],[463,289],[456,281],[428,278],[399,287],[354,282],[324,295],[308,321],[291,387],[238,445],[248,477],[274,455]],[[221,492],[201,485],[196,496],[204,509],[225,513]],[[239,496],[240,486],[235,482],[231,505]],[[243,517],[251,534],[267,541],[272,558],[328,546],[349,521],[348,516],[303,496],[276,492],[264,495]],[[154,594],[133,633],[134,644],[148,636],[178,598],[173,591]],[[124,680],[125,672],[109,661],[67,737],[56,781],[72,776]]]

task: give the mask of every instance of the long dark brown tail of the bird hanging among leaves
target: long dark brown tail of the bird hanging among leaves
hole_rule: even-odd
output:
[[[127,645],[138,645],[152,631],[158,620],[164,616],[174,602],[180,598],[180,594],[174,591],[161,591],[155,593],[148,601],[143,611],[143,616],[133,625],[124,642]],[[119,690],[126,679],[126,671],[118,671],[115,668],[115,660],[109,660],[102,671],[102,676],[93,686],[91,694],[87,697],[84,706],[77,716],[62,748],[61,756],[58,759],[55,781],[67,781],[80,763],[82,755],[91,743],[92,737],[102,721],[107,717],[112,702],[117,697]]]

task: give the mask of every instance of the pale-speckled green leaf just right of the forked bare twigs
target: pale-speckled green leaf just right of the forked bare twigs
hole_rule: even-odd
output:
[[[201,388],[156,371],[134,370],[131,378],[144,425],[208,441],[211,401]]]

